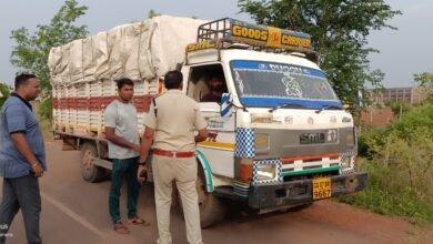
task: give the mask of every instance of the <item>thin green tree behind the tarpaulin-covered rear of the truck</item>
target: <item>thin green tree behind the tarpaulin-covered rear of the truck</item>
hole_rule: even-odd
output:
[[[72,40],[84,38],[87,26],[74,26],[88,7],[79,6],[75,0],[66,0],[49,24],[39,24],[34,33],[27,28],[12,30],[11,39],[16,41],[10,62],[22,70],[34,73],[42,87],[43,102],[41,115],[51,119],[52,108],[50,71],[47,65],[48,54],[53,47],[66,44]],[[46,108],[46,109],[43,109]]]

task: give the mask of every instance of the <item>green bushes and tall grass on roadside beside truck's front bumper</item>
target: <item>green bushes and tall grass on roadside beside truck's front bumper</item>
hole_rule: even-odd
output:
[[[433,223],[433,105],[413,108],[386,130],[363,132],[360,149],[367,187],[341,201]]]

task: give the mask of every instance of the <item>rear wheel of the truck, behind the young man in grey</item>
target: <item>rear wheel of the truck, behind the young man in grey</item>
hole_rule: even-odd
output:
[[[98,156],[94,143],[85,142],[81,148],[81,176],[90,183],[100,182],[105,176],[105,169],[92,163],[92,157]]]

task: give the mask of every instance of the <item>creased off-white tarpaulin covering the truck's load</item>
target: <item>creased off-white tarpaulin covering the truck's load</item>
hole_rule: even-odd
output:
[[[207,21],[160,16],[119,26],[95,35],[52,48],[51,82],[70,85],[95,80],[151,80],[183,62],[187,44]]]

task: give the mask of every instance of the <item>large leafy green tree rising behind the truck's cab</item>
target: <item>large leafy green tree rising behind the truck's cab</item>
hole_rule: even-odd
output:
[[[384,77],[370,70],[367,55],[379,50],[366,48],[366,37],[395,29],[386,21],[401,14],[384,0],[239,0],[238,6],[259,23],[310,33],[321,68],[352,112],[360,111],[358,91],[379,85]]]

